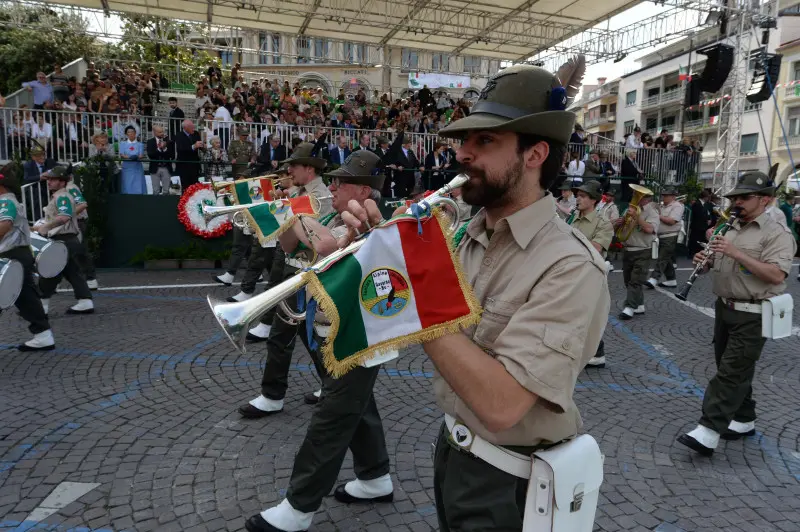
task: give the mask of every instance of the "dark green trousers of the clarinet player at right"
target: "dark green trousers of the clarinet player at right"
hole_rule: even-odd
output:
[[[747,423],[756,419],[753,375],[767,340],[761,336],[761,314],[732,310],[720,299],[714,310],[717,374],[703,396],[700,424],[724,433],[731,420]]]

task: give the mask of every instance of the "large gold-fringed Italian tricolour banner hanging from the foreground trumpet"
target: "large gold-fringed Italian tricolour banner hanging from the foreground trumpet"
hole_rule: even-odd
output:
[[[335,378],[385,351],[427,342],[480,321],[481,308],[441,213],[402,215],[373,229],[353,254],[306,273],[331,321],[322,359]]]

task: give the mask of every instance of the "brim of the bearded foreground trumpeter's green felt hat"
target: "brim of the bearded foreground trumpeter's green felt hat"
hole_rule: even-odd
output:
[[[472,113],[440,129],[439,136],[462,138],[470,131],[510,131],[567,144],[574,126],[575,114],[568,111],[545,111],[515,119],[489,113]]]

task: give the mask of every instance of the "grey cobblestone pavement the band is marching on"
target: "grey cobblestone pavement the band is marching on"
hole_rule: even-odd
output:
[[[797,266],[789,285],[800,301],[796,276]],[[608,365],[584,371],[576,390],[585,430],[606,456],[595,528],[800,530],[800,337],[767,343],[754,384],[758,434],[702,458],[675,438],[696,423],[714,373],[710,280],[695,285],[691,308],[647,291],[646,314],[624,323],[615,318],[622,276],[610,280]],[[115,271],[100,281],[208,283],[210,272]],[[237,406],[258,393],[265,348],[238,354],[204,300],[237,290],[101,290],[89,316],[65,315],[72,296],[60,294],[51,304],[58,349],[49,353],[17,352],[27,330],[15,311],[0,317],[0,530],[242,530],[282,499],[313,409],[303,394],[317,382],[298,342],[285,412],[240,419]],[[313,530],[437,528],[430,444],[442,416],[431,371],[411,349],[375,387],[395,502],[348,507],[329,497]],[[340,478],[351,475],[348,458]],[[99,486],[36,524],[63,482]]]

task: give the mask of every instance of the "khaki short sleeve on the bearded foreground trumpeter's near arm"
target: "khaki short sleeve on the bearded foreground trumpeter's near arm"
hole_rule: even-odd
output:
[[[605,275],[591,261],[558,264],[512,313],[492,351],[525,389],[564,412],[570,408],[584,359],[597,349],[596,343],[586,345],[586,339],[600,338],[609,306]],[[491,326],[493,319],[487,305],[481,321]]]

